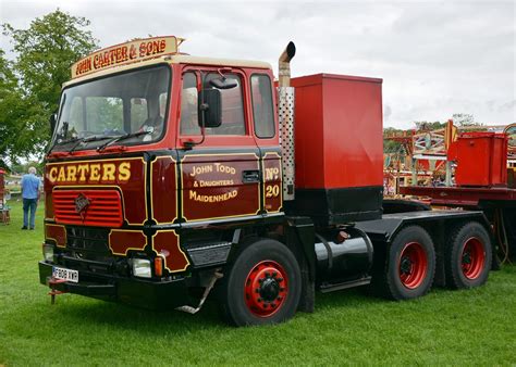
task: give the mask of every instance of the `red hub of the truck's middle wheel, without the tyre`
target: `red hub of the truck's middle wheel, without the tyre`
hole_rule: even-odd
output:
[[[418,242],[405,244],[400,255],[400,280],[408,289],[421,286],[428,271],[427,252]]]

